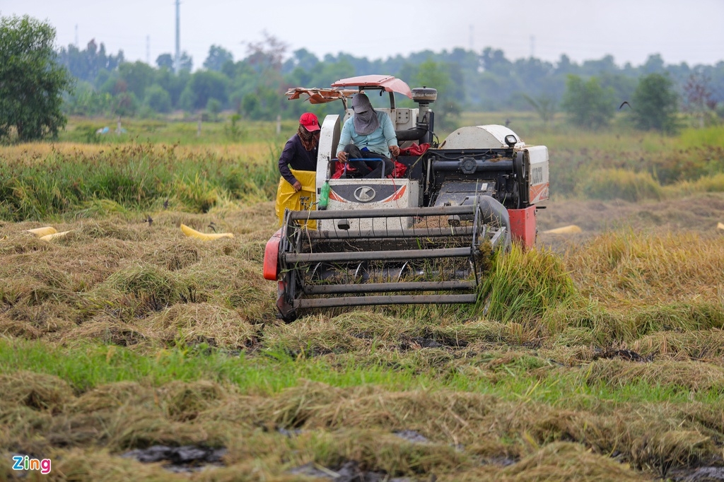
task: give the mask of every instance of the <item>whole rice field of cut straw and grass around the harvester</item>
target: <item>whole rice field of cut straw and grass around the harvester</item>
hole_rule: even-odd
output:
[[[0,148],[0,481],[721,480],[716,173],[558,195],[478,307],[283,324],[275,148]]]

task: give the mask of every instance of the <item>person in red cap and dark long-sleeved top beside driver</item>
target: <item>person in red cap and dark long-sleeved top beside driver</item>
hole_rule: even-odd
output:
[[[302,184],[290,168],[296,171],[316,171],[318,150],[319,119],[311,112],[305,112],[299,118],[297,133],[287,140],[282,156],[279,156],[279,173],[296,192],[302,189]]]

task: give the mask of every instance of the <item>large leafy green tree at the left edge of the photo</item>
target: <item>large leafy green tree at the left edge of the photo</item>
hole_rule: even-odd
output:
[[[13,128],[27,141],[65,126],[62,94],[71,77],[55,62],[54,41],[55,29],[28,15],[0,18],[0,140]]]

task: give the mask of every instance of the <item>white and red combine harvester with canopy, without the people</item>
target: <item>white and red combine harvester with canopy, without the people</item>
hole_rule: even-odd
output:
[[[402,177],[333,177],[341,124],[353,114],[347,101],[362,91],[389,93],[390,107],[376,110],[390,115],[400,149],[419,153],[397,158],[406,166]],[[396,107],[394,93],[417,107]],[[345,117],[328,115],[321,125],[316,199],[327,208],[287,210],[266,244],[264,277],[278,283],[280,318],[293,321],[313,308],[476,303],[492,252],[511,242],[534,245],[536,203],[548,199],[545,146],[526,145],[500,125],[460,127],[437,143],[430,109],[437,90],[410,90],[390,76],[287,96],[340,100]]]

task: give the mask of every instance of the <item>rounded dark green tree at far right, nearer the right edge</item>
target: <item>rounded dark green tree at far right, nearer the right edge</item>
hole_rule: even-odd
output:
[[[667,75],[649,74],[639,79],[631,98],[633,124],[641,130],[673,134],[678,130],[678,96]]]

